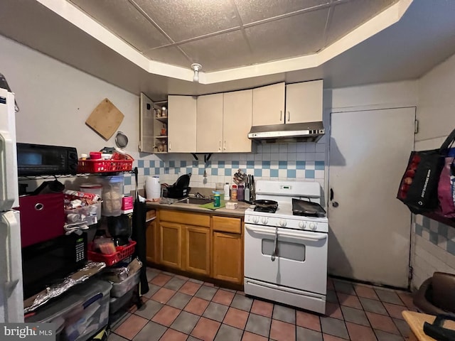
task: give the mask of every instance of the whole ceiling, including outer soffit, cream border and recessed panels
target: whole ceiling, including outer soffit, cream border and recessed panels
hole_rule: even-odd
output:
[[[224,5],[236,9],[233,14],[216,7],[221,6],[217,5],[220,0],[144,1],[159,4],[157,11],[170,14],[166,26],[159,21],[162,15],[156,18],[156,25],[146,18],[138,8],[151,9],[139,6],[138,1],[77,1],[76,6],[66,0],[2,0],[0,34],[134,94],[145,92],[154,100],[165,99],[167,94],[208,94],[321,78],[325,88],[413,80],[455,53],[455,1],[451,0],[326,1],[328,4],[317,0],[233,1]],[[275,3],[280,7],[274,7]],[[86,4],[96,5],[98,11],[102,8],[98,6],[108,4],[103,15],[118,22],[118,26],[107,19],[101,25],[101,14],[95,9],[80,9]],[[242,4],[252,9],[250,15],[245,14]],[[125,8],[122,13],[116,12],[119,18],[112,16],[117,6]],[[351,17],[356,7],[363,8],[360,13],[365,18],[380,8],[384,10],[363,22],[365,18]],[[208,9],[219,11],[208,16]],[[345,13],[341,9],[346,9]],[[90,11],[90,16],[86,11]],[[311,17],[302,25],[316,28],[316,17],[320,16],[317,13],[327,11],[323,31],[309,34],[311,48],[302,38],[306,35],[296,33],[296,26],[277,26],[280,22],[292,23],[295,18]],[[134,18],[132,23],[124,23],[122,18],[129,18],[127,13]],[[198,25],[200,16],[208,18],[203,25]],[[145,31],[137,28],[139,21],[146,24]],[[235,26],[223,31],[229,26],[228,21]],[[347,24],[349,28],[345,27]],[[248,29],[252,32],[259,27],[264,30],[259,30],[257,36],[247,35]],[[158,30],[159,34],[151,35],[147,30]],[[204,32],[209,36],[204,36]],[[373,32],[377,33],[372,36]],[[230,39],[236,38],[238,44],[231,44]],[[201,47],[191,53],[191,44]],[[316,53],[295,54],[319,46],[323,48]],[[0,58],[1,53],[0,48]],[[151,53],[156,53],[156,59],[146,56]],[[174,58],[183,64],[176,65]],[[192,82],[193,62],[203,65],[200,83]],[[18,67],[20,63],[18,58]]]

